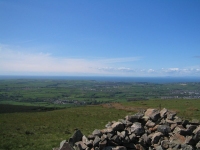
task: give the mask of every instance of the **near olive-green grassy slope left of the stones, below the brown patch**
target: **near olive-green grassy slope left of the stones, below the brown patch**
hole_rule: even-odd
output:
[[[128,112],[101,106],[68,108],[38,113],[0,114],[0,149],[50,150],[68,139],[75,128],[83,134],[103,129],[108,121],[123,118]]]

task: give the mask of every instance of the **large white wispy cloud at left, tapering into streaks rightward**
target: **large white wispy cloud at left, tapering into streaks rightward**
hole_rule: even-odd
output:
[[[74,73],[74,74],[113,74],[130,70],[127,67],[113,68],[109,64],[137,61],[136,57],[86,59],[54,57],[48,53],[13,51],[0,47],[1,73]],[[115,65],[113,65],[115,66]],[[109,68],[109,69],[106,69]],[[102,69],[100,69],[102,68]],[[112,70],[112,71],[111,71]],[[115,71],[114,71],[115,70]]]

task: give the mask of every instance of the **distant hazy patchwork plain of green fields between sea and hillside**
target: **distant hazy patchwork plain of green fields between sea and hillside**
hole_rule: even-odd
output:
[[[200,83],[0,80],[0,104],[73,107],[150,99],[200,99]],[[56,105],[56,106],[55,106]]]

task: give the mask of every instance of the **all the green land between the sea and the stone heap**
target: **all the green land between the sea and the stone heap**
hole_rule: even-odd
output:
[[[200,83],[0,80],[0,150],[50,150],[146,108],[200,120],[199,93]]]

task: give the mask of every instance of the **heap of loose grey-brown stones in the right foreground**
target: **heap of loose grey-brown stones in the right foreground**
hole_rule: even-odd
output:
[[[53,150],[200,150],[200,123],[167,109],[147,109],[112,121],[87,137],[76,130]]]

